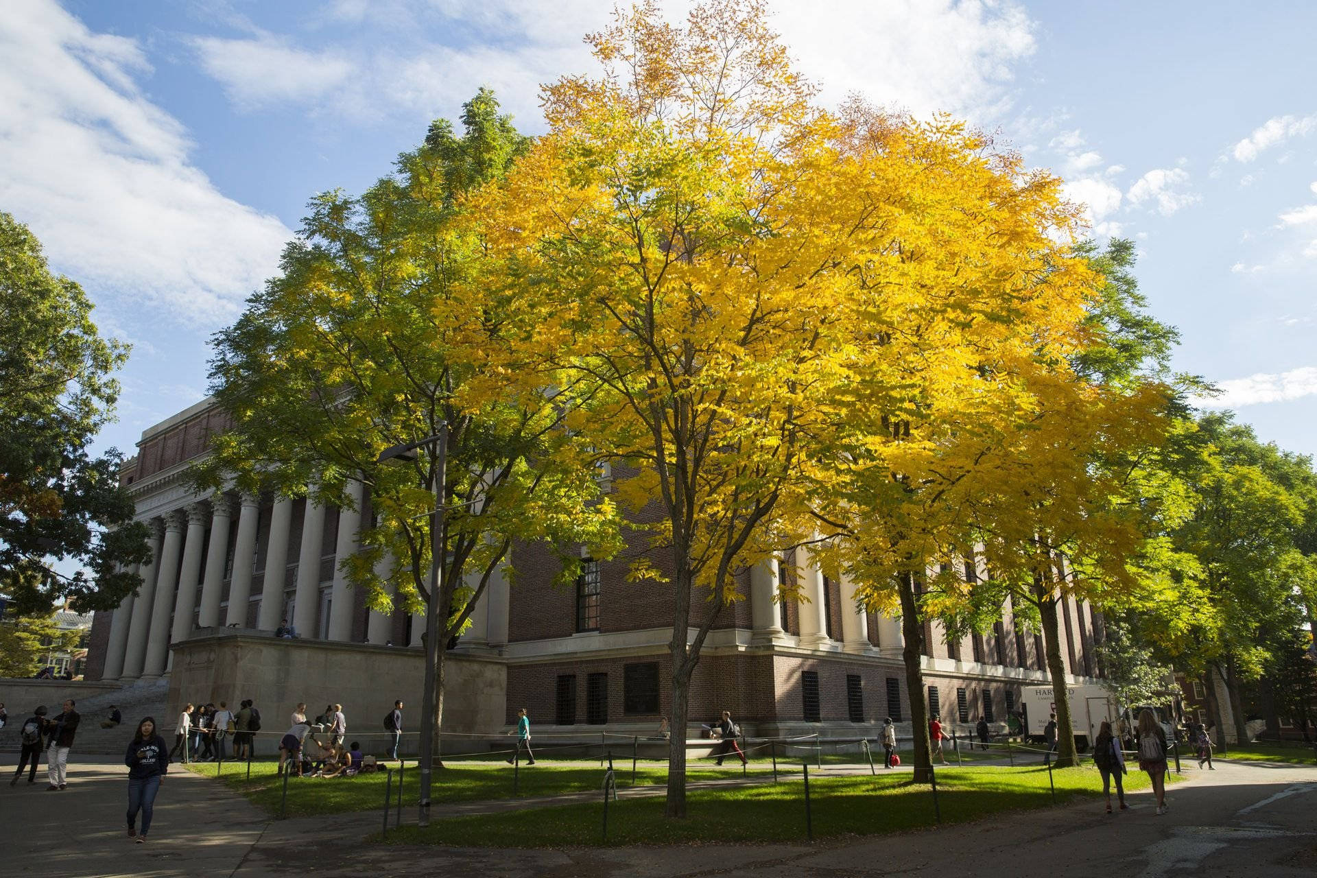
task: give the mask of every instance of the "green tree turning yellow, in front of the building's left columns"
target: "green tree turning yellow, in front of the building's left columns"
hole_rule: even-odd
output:
[[[374,520],[341,563],[378,612],[431,606],[439,528],[439,629],[427,637],[441,645],[466,627],[514,542],[561,549],[570,578],[577,546],[608,557],[618,540],[612,504],[565,424],[558,396],[569,388],[520,362],[512,299],[461,283],[479,258],[453,224],[462,196],[527,142],[487,90],[464,105],[462,126],[457,136],[436,121],[396,172],[360,197],[328,192],[311,203],[279,275],[215,337],[212,392],[233,426],[196,471],[202,486],[236,479],[287,495],[313,483],[313,499],[346,507],[357,504],[350,483],[362,482]],[[441,432],[436,515],[440,459],[424,440]],[[410,463],[377,463],[382,450],[416,442]],[[443,648],[436,661],[437,728]]]

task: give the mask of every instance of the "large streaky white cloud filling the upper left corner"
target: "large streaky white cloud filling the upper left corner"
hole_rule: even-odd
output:
[[[275,270],[291,233],[191,163],[187,132],[137,88],[146,70],[136,42],[50,0],[7,7],[0,205],[95,294],[213,325]]]

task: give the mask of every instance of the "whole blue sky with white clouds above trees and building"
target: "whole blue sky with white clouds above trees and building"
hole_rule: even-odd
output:
[[[772,0],[827,101],[996,130],[1138,241],[1177,367],[1317,453],[1317,4]],[[104,445],[198,401],[207,338],[306,201],[361,191],[481,84],[528,132],[611,3],[21,0],[0,17],[0,209],[134,345]],[[665,3],[685,14],[685,3]]]

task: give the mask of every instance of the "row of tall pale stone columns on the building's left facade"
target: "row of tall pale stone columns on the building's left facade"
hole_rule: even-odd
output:
[[[363,496],[361,482],[349,482],[348,495],[352,505],[338,509],[336,561],[360,548]],[[274,631],[283,619],[292,503],[290,498],[278,498],[270,515],[270,538],[266,546],[265,578],[257,616],[257,628],[263,631]],[[234,512],[237,512],[237,534],[233,573],[229,582],[228,611],[221,612],[224,569]],[[169,645],[188,637],[194,615],[199,628],[246,627],[259,516],[259,498],[244,494],[234,503],[229,495],[219,494],[209,502],[191,503],[149,523],[151,559],[134,570],[141,577],[142,584],[136,594],[124,599],[111,619],[104,679],[149,679],[167,673],[171,662]],[[319,633],[324,521],[325,507],[308,499],[298,553],[294,617],[290,620],[302,637],[316,637]],[[387,559],[377,567],[377,573],[387,583],[390,596],[394,596],[392,567],[392,562]],[[200,582],[200,606],[198,606],[198,582]],[[495,596],[494,603],[499,599],[503,603],[502,641],[506,642],[506,594]],[[490,603],[486,599],[482,602],[483,606],[477,608],[482,620]],[[352,623],[353,600],[348,578],[340,565],[335,563],[327,620],[328,638],[352,640]],[[417,613],[411,625],[412,645],[420,642],[424,624],[424,615]],[[371,612],[367,619],[366,638],[373,644],[385,644],[391,634],[391,613]]]

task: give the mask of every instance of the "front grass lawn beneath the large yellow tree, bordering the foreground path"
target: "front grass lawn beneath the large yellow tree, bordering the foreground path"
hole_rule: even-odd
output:
[[[1172,782],[1176,779],[1172,774]],[[1101,796],[1096,769],[1054,771],[1056,803]],[[1131,771],[1126,790],[1148,787]],[[814,837],[900,832],[932,825],[934,803],[927,786],[909,775],[823,777],[810,779]],[[1047,770],[1042,767],[967,767],[938,770],[942,823],[976,820],[989,813],[1052,806]],[[608,845],[689,842],[805,841],[803,783],[694,790],[689,816],[664,820],[664,799],[623,799],[608,806]],[[491,813],[439,820],[429,827],[389,832],[389,844],[449,844],[495,848],[598,846],[603,803],[537,808],[533,815]]]

